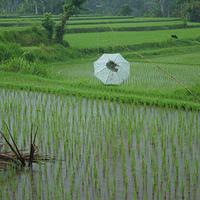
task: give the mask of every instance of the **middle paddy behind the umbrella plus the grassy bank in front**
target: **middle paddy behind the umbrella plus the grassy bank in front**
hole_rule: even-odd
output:
[[[187,93],[170,76],[150,63],[131,62],[131,76],[122,85],[105,86],[94,76],[94,61],[95,59],[90,60],[90,62],[76,60],[74,63],[63,62],[53,63],[52,66],[48,65],[47,67],[52,69],[50,79],[2,71],[0,86],[54,94],[74,94],[88,98],[96,97],[110,100],[117,98],[123,102],[147,104],[157,102],[157,105],[162,106],[170,104],[171,106],[181,107],[181,105],[186,106],[187,104],[188,108],[199,109],[199,103],[192,95]],[[162,62],[162,59],[159,61]],[[200,98],[198,88],[199,66],[197,64],[159,63],[159,66],[172,74]]]

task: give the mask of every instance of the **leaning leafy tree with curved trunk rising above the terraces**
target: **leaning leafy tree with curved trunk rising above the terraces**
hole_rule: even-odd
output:
[[[82,4],[85,1],[86,0],[68,0],[63,5],[63,13],[60,15],[61,22],[58,23],[55,27],[55,35],[58,43],[62,43],[63,41],[63,36],[65,34],[65,25],[67,21],[72,15],[76,14],[82,8]]]

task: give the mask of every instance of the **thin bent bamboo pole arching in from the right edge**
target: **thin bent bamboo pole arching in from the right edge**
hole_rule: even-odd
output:
[[[101,39],[101,40],[102,40],[102,41],[105,41],[105,42],[108,42],[108,43],[111,43],[111,44],[114,44],[114,45],[117,45],[117,46],[119,46],[119,47],[121,47],[121,48],[123,48],[123,49],[126,49],[126,50],[128,50],[128,51],[130,51],[130,52],[132,52],[132,53],[134,53],[134,54],[136,54],[136,55],[138,55],[138,56],[140,56],[141,58],[145,59],[146,61],[150,62],[151,64],[153,64],[154,66],[156,66],[157,68],[159,68],[160,70],[162,70],[164,73],[166,73],[167,75],[169,75],[171,78],[173,78],[176,82],[178,82],[178,83],[179,83],[183,88],[185,88],[192,96],[194,96],[194,97],[199,101],[199,103],[200,103],[200,99],[199,99],[191,90],[189,90],[189,89],[188,89],[185,85],[183,85],[178,79],[176,79],[173,75],[171,75],[171,74],[170,74],[169,72],[167,72],[166,70],[162,69],[160,66],[158,66],[158,65],[155,64],[154,62],[150,61],[149,59],[145,58],[144,56],[138,54],[138,53],[135,52],[135,51],[132,51],[131,49],[129,49],[129,48],[127,48],[127,47],[121,46],[121,45],[119,45],[119,44],[117,44],[117,43],[110,42],[110,41],[105,40],[105,39]]]

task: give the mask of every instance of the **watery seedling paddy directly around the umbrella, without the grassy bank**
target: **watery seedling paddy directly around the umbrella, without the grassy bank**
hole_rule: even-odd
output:
[[[187,61],[187,57],[185,55],[177,56],[177,61],[179,58],[179,62],[181,62],[183,57],[185,57],[185,61]],[[170,59],[170,57],[160,59],[155,58],[155,62],[164,62],[164,59],[167,58]],[[98,59],[98,57],[96,59]],[[129,61],[129,59],[127,60]],[[196,59],[196,61],[197,63],[195,64],[195,59],[193,59],[193,64],[191,65],[160,63],[159,66],[176,77],[184,85],[191,87],[199,81],[198,59]],[[66,63],[57,63],[53,67],[53,72],[54,74],[58,74],[56,76],[58,80],[90,84],[90,89],[92,89],[92,85],[101,85],[102,90],[106,91],[112,86],[105,86],[99,79],[94,77],[93,62],[94,61],[88,63],[71,63],[68,65],[66,65]],[[113,88],[120,88],[121,90],[130,89],[133,93],[136,90],[157,90],[166,93],[173,93],[176,90],[182,89],[176,81],[152,64],[145,62],[130,63],[130,77],[125,80],[121,86],[113,86]]]

